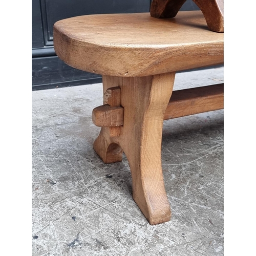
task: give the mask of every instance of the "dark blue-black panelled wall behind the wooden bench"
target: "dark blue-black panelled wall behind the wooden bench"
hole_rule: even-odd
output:
[[[78,15],[149,12],[151,0],[32,0],[32,90],[101,82],[101,76],[73,69],[53,48],[53,24]],[[187,0],[181,11],[199,10]]]

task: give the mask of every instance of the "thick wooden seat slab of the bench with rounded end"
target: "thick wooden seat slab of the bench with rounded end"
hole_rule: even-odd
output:
[[[201,11],[86,15],[54,24],[54,49],[80,70],[149,76],[223,63],[223,33],[209,31]]]

